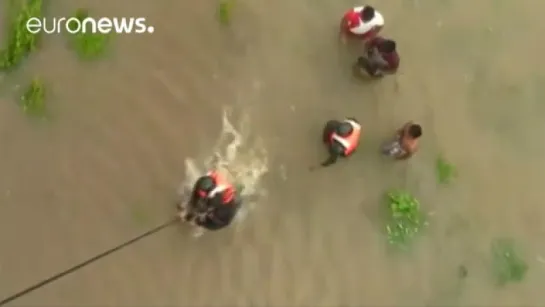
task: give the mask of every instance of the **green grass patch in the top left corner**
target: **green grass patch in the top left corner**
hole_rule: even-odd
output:
[[[10,0],[7,3],[7,42],[0,51],[0,69],[18,66],[38,46],[39,34],[27,31],[32,17],[42,17],[42,0]]]

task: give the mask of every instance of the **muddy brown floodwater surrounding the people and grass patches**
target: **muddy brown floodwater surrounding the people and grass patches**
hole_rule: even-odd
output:
[[[355,55],[335,40],[354,4],[237,0],[226,28],[215,1],[51,3],[57,16],[146,16],[155,33],[117,37],[96,63],[47,37],[2,77],[0,297],[170,218],[186,164],[202,168],[222,146],[227,110],[244,131],[235,160],[246,168],[235,172],[267,170],[242,223],[199,239],[170,228],[12,305],[542,305],[545,3],[371,1],[402,56],[379,82],[354,79]],[[34,74],[47,82],[50,122],[15,104]],[[325,157],[323,123],[343,116],[365,128],[360,151],[309,172]],[[385,161],[380,142],[408,119],[424,127],[421,151]],[[460,174],[449,187],[436,185],[439,154]],[[410,188],[431,214],[408,254],[388,253],[382,236],[391,187]],[[489,248],[504,236],[530,269],[498,289]]]

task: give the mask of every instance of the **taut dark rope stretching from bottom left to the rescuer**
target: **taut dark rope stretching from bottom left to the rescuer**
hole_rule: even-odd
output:
[[[110,254],[112,254],[114,252],[117,252],[117,251],[119,251],[119,250],[133,244],[133,243],[136,243],[137,241],[139,241],[139,240],[141,240],[141,239],[143,239],[145,237],[151,236],[152,234],[155,234],[155,233],[157,233],[157,232],[159,232],[159,231],[161,231],[161,230],[163,230],[163,229],[165,229],[165,228],[167,228],[169,226],[172,226],[178,221],[179,221],[178,217],[173,218],[172,220],[169,220],[169,221],[167,221],[167,222],[165,222],[165,223],[163,223],[163,224],[161,224],[161,225],[159,225],[159,226],[157,226],[157,227],[155,227],[155,228],[153,228],[151,230],[148,230],[145,233],[143,233],[143,234],[141,234],[141,235],[139,235],[137,237],[134,237],[134,238],[132,238],[132,239],[130,239],[130,240],[116,246],[116,247],[113,247],[113,248],[111,248],[111,249],[109,249],[107,251],[104,251],[104,252],[102,252],[102,253],[100,253],[100,254],[92,257],[92,258],[89,258],[89,259],[87,259],[87,260],[85,260],[85,261],[83,261],[83,262],[81,262],[81,263],[79,263],[79,264],[77,264],[77,265],[75,265],[75,266],[73,266],[71,268],[68,268],[68,269],[66,269],[64,271],[58,272],[58,273],[52,275],[49,278],[46,278],[46,279],[44,279],[44,280],[42,280],[42,281],[40,281],[40,282],[26,288],[24,290],[21,290],[21,291],[15,293],[15,294],[12,294],[12,295],[2,299],[0,301],[0,306],[4,306],[5,304],[10,303],[10,302],[12,302],[12,301],[14,301],[14,300],[16,300],[18,298],[21,298],[22,296],[25,296],[25,295],[27,295],[27,294],[35,291],[35,290],[38,290],[38,289],[40,289],[40,288],[42,288],[44,286],[47,286],[48,284],[50,284],[50,283],[52,283],[52,282],[54,282],[54,281],[56,281],[56,280],[58,280],[58,279],[60,279],[60,278],[62,278],[64,276],[66,276],[66,275],[74,273],[74,272],[78,271],[79,269],[82,269],[82,268],[88,266],[89,264],[91,264],[91,263],[93,263],[93,262],[95,262],[97,260],[100,260],[100,259],[102,259],[102,258],[104,258],[104,257],[106,257],[106,256],[108,256],[108,255],[110,255]]]

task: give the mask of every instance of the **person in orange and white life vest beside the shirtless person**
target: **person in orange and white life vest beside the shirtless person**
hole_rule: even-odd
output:
[[[337,162],[339,157],[348,157],[360,143],[361,126],[354,118],[344,121],[330,120],[326,123],[322,135],[323,142],[329,150],[329,158],[322,166],[329,166]]]

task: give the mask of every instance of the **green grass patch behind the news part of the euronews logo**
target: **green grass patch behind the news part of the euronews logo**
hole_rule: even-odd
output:
[[[83,22],[85,18],[89,17],[89,12],[86,9],[78,9],[73,17]],[[76,24],[71,23],[69,26],[72,31],[77,30]],[[91,30],[86,28],[76,34],[70,34],[72,47],[84,60],[96,59],[104,54],[111,38],[110,34],[91,33]]]

